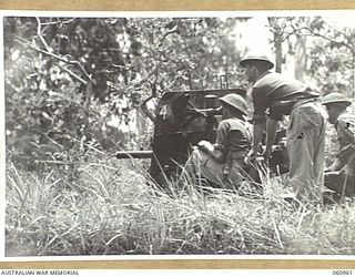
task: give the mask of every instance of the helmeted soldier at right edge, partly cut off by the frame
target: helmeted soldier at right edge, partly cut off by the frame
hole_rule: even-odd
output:
[[[336,92],[324,96],[322,103],[339,144],[335,161],[325,170],[325,185],[336,193],[335,198],[351,197],[355,194],[355,103]]]

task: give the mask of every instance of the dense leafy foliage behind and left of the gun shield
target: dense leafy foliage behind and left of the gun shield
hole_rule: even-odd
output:
[[[221,74],[237,86],[239,52],[230,35],[236,20],[6,18],[12,157],[31,161],[33,143],[45,153],[49,144],[69,150],[83,141],[125,147],[124,133],[105,124],[114,116],[129,124],[130,111],[145,99],[217,88]]]

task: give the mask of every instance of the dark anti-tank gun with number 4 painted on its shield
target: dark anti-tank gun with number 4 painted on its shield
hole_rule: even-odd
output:
[[[162,187],[166,178],[180,174],[192,146],[200,141],[215,141],[216,129],[222,120],[222,109],[219,98],[230,93],[242,96],[246,91],[242,89],[200,90],[184,92],[166,92],[160,99],[155,110],[155,125],[151,143],[151,151],[118,152],[118,158],[151,158],[149,173]],[[284,136],[277,133],[276,142]],[[271,160],[271,168],[276,173],[287,171],[284,152],[275,145]]]

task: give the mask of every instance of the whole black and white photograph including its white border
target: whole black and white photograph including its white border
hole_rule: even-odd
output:
[[[98,14],[1,19],[6,257],[354,257],[354,11]]]

